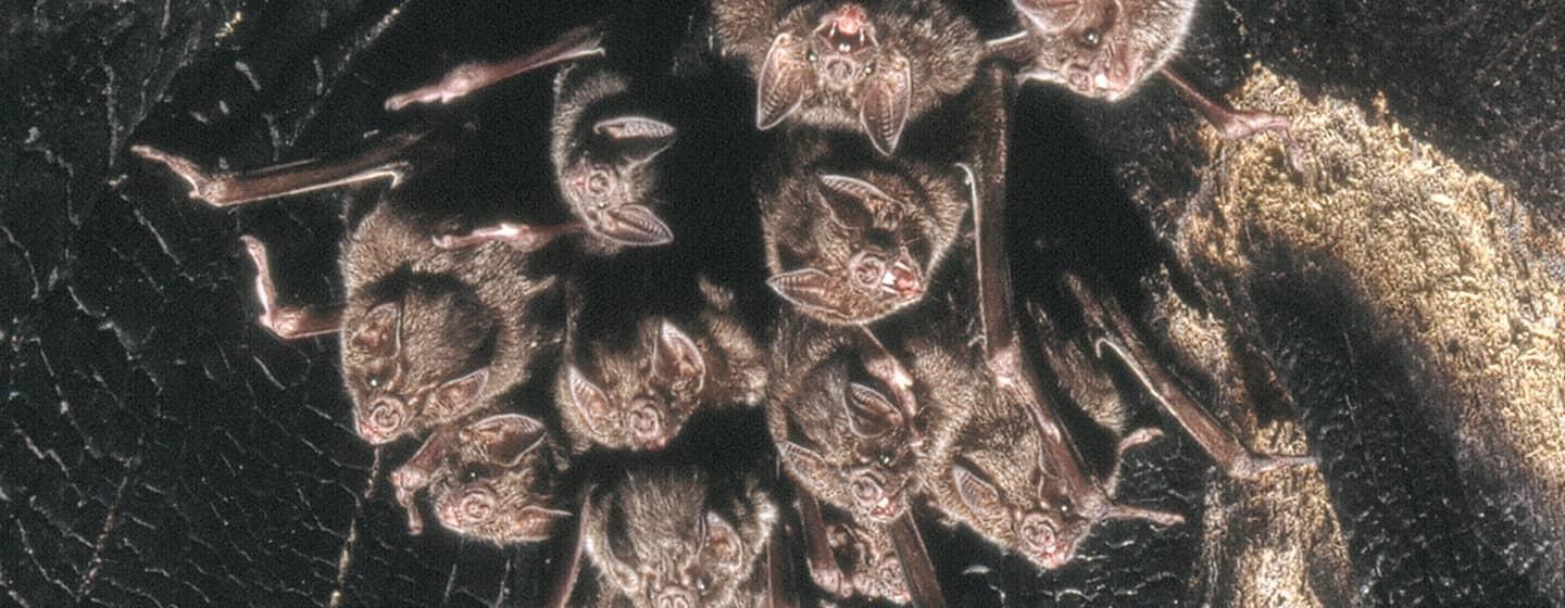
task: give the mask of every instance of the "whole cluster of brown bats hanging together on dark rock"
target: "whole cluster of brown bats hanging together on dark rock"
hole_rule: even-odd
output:
[[[562,224],[430,213],[424,203],[438,192],[419,169],[449,156],[449,130],[246,172],[133,152],[213,206],[390,180],[341,245],[343,303],[280,302],[264,245],[243,241],[261,325],[283,339],[340,336],[358,436],[423,439],[391,475],[412,533],[424,527],[427,492],[440,525],[463,536],[574,535],[554,603],[784,605],[797,591],[782,585],[787,547],[798,542],[826,595],[942,605],[914,511],[1041,569],[1069,563],[1100,520],[1183,520],[1114,502],[1116,475],[1097,478],[1070,442],[1055,395],[1086,411],[1117,406],[1106,355],[1230,475],[1311,463],[1239,444],[1157,364],[1100,286],[1064,281],[1086,338],[1061,338],[1036,306],[1016,314],[1003,239],[1017,81],[1117,100],[1160,72],[1225,134],[1286,138],[1288,120],[1208,102],[1164,67],[1194,0],[1013,6],[1020,33],[984,42],[945,0],[711,2],[707,55],[753,78],[754,127],[776,133],[753,177],[767,284],[779,297],[765,322],[706,278],[646,291],[593,278],[595,264],[681,238],[662,213],[679,202],[665,200],[659,180],[681,125],[643,108],[642,75],[615,67],[626,50],[606,48],[601,25],[385,102],[388,111],[448,103],[562,66],[549,145],[570,211]],[[581,263],[545,261],[562,250]],[[1024,350],[1027,333],[1038,352]],[[515,411],[507,395],[532,381],[552,388],[552,403]],[[776,447],[764,463],[776,466],[659,460],[689,420],[757,408]],[[1157,435],[1128,433],[1119,452]],[[624,458],[574,475],[596,453]],[[776,469],[786,481],[762,474]],[[576,589],[584,555],[595,575]]]

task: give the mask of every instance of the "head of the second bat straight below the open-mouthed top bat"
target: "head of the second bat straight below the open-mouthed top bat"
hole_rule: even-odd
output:
[[[817,499],[848,511],[856,520],[887,524],[908,510],[917,491],[912,420],[886,392],[848,381],[837,358],[812,372],[790,403],[800,435],[812,444],[782,438],[784,467]]]

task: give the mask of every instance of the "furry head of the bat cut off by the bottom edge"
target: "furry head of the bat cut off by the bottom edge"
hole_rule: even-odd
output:
[[[585,550],[635,605],[726,606],[751,578],[776,519],[757,491],[726,505],[703,475],[629,477],[588,503]],[[743,503],[742,506],[739,503]]]

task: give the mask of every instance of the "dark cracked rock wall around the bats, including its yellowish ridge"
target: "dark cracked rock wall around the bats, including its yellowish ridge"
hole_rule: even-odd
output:
[[[1005,2],[966,6],[986,34],[1009,30]],[[408,536],[385,477],[412,445],[354,436],[333,341],[254,324],[236,238],[272,244],[286,297],[340,297],[355,197],[216,211],[125,150],[241,167],[341,148],[416,120],[382,113],[387,94],[596,11],[0,6],[0,603],[535,605],[556,547]],[[926,525],[952,602],[1565,603],[1565,375],[1548,320],[1565,272],[1562,31],[1557,2],[1205,2],[1177,67],[1216,94],[1268,66],[1235,102],[1308,125],[1324,164],[1310,188],[1333,188],[1307,197],[1319,208],[1283,203],[1299,186],[1274,141],[1205,139],[1161,83],[1117,106],[1027,86],[1017,283],[1089,269],[1144,295],[1193,392],[1250,445],[1308,447],[1324,466],[1233,483],[1188,439],[1160,442],[1131,458],[1122,497],[1193,524],[1105,525],[1050,574]],[[496,198],[548,195],[545,81],[449,109],[495,133],[474,163],[495,167],[476,188]],[[1362,195],[1408,184],[1421,195]],[[1349,238],[1352,220],[1382,230]],[[1470,238],[1440,249],[1419,231]],[[1362,247],[1311,241],[1327,238]],[[1462,253],[1430,253],[1448,250]],[[1552,435],[1537,425],[1551,413]]]

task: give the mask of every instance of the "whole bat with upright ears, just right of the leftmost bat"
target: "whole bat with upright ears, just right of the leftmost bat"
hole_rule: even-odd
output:
[[[703,305],[678,316],[628,316],[617,302],[596,302],[609,297],[603,292],[573,297],[556,405],[576,452],[590,445],[662,449],[698,410],[761,403],[765,361],[737,316],[732,292],[706,280],[700,291]],[[584,322],[581,308],[588,305],[612,308],[615,319]],[[593,338],[584,339],[584,331]]]

